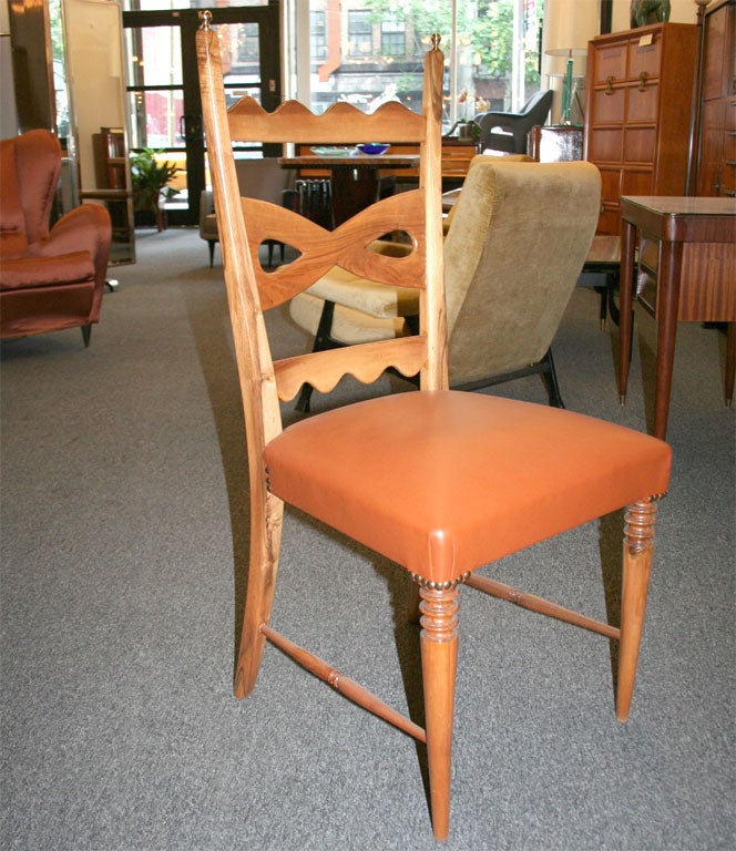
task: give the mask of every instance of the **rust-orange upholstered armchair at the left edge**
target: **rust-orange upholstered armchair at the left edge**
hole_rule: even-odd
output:
[[[49,230],[60,172],[61,146],[49,131],[0,142],[0,337],[81,326],[89,346],[100,320],[110,215],[84,204]]]

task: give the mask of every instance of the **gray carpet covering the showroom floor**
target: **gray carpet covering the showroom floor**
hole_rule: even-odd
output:
[[[1,347],[2,848],[433,848],[409,738],[273,647],[254,695],[232,696],[248,531],[222,270],[194,232],[141,232],[137,252],[88,350],[79,330]],[[268,322],[278,355],[305,349],[283,310]],[[653,322],[636,325],[622,409],[615,334],[575,293],[555,345],[569,408],[651,423]],[[451,851],[736,847],[724,349],[679,327],[672,490],[627,725],[604,638],[461,595]],[[316,407],[359,392],[348,381]],[[544,400],[535,378],[499,392]],[[620,540],[606,519],[492,574],[615,618]],[[289,512],[274,624],[416,714],[406,592],[402,572]]]

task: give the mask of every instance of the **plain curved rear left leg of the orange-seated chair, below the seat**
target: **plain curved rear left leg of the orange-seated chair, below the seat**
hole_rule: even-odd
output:
[[[235,696],[239,698],[253,691],[260,667],[266,640],[260,627],[267,624],[270,617],[284,517],[284,503],[266,493],[265,485],[265,499],[258,499],[257,489],[254,491],[251,501],[248,589],[235,671]]]

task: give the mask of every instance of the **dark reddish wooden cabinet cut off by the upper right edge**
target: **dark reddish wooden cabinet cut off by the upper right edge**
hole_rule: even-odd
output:
[[[736,0],[703,20],[697,195],[736,197]]]

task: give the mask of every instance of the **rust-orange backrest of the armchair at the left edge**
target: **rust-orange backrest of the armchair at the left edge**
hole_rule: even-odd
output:
[[[22,257],[49,236],[60,173],[61,145],[48,130],[0,142],[0,257]]]

